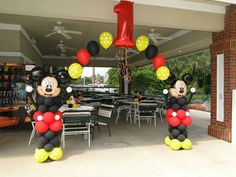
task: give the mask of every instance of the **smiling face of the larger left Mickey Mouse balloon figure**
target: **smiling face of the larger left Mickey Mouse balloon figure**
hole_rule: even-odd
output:
[[[56,97],[60,94],[61,89],[58,87],[58,82],[54,77],[45,77],[41,85],[37,87],[39,95],[43,97]]]

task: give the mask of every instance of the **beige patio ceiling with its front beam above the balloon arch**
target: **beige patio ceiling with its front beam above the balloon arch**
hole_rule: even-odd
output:
[[[159,41],[158,44],[159,51],[167,58],[209,48],[211,32],[223,29],[225,6],[228,5],[206,0],[134,2],[134,40],[139,35],[150,33],[150,29],[170,37],[171,40]],[[69,65],[75,61],[76,51],[66,50],[65,56],[61,55],[61,50],[57,48],[60,41],[66,47],[78,50],[86,48],[90,40],[98,41],[103,31],[116,36],[113,7],[118,2],[113,0],[22,0],[20,3],[0,0],[0,3],[0,23],[22,26],[31,39],[29,43],[38,48],[38,55],[45,65]],[[72,39],[65,39],[55,34],[46,38],[45,35],[51,32],[58,21],[66,29],[81,31],[82,35],[71,35]],[[0,33],[4,33],[4,30],[0,29]],[[1,41],[0,50],[1,45],[10,42]],[[92,58],[90,66],[116,66],[115,53],[113,46],[106,51],[102,49],[99,57]],[[145,59],[143,53],[132,55],[133,66],[148,63],[150,61]]]

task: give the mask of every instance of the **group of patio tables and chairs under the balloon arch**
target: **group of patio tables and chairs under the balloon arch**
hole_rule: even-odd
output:
[[[90,93],[91,95],[91,93]],[[157,121],[163,123],[166,110],[163,98],[140,97],[137,100],[132,95],[114,95],[92,93],[93,96],[79,98],[76,105],[63,104],[59,111],[63,114],[61,142],[63,148],[68,148],[66,139],[70,135],[82,135],[88,147],[93,146],[93,140],[101,131],[107,132],[102,136],[112,136],[113,127],[126,122],[129,126],[150,124],[157,126]],[[72,99],[72,97],[70,97]],[[76,98],[73,97],[75,100]],[[71,103],[74,100],[67,100]],[[69,101],[69,102],[68,102]],[[32,119],[32,132],[28,145],[35,137],[35,121]],[[75,137],[75,141],[78,139]],[[80,140],[81,141],[81,140]],[[38,143],[42,143],[41,141]],[[80,142],[84,143],[84,142]],[[43,146],[43,145],[42,145]]]

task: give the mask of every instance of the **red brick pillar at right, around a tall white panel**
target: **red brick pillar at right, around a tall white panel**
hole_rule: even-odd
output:
[[[224,31],[213,33],[211,49],[211,124],[208,134],[231,142],[232,89],[236,89],[236,5],[226,8]],[[216,120],[217,54],[224,54],[224,122]]]

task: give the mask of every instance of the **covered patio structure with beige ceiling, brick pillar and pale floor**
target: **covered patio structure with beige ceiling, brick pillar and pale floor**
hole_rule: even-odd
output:
[[[113,36],[116,33],[116,16],[112,12],[116,1],[0,2],[0,63],[69,66],[76,62],[75,51],[86,48],[91,40],[98,40],[101,32],[110,31]],[[125,121],[125,116],[115,124],[113,115],[111,137],[106,128],[99,132],[95,127],[89,148],[83,136],[69,136],[61,160],[39,164],[32,155],[35,146],[27,144],[31,129],[7,128],[0,130],[1,177],[236,175],[236,98],[232,94],[236,89],[236,2],[137,0],[134,3],[134,39],[140,34],[158,33],[162,39],[150,40],[167,60],[210,50],[211,112],[191,110],[192,149],[167,148],[163,139],[168,134],[168,124],[160,117],[156,127],[148,122],[139,127]],[[60,30],[55,30],[58,25],[60,29],[78,30],[80,34],[66,39]],[[52,31],[55,35],[51,36]],[[116,54],[114,46],[101,50],[87,66],[117,67]],[[130,50],[129,55],[131,68],[151,64],[142,52]],[[129,93],[130,85],[124,78],[120,78],[120,87],[121,94]]]

